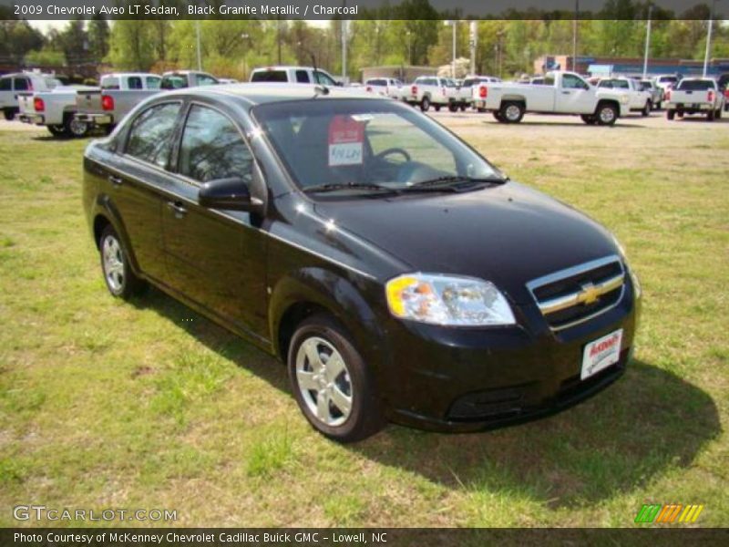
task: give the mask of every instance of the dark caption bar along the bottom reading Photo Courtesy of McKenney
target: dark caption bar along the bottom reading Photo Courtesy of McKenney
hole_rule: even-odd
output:
[[[726,545],[729,529],[261,529],[261,528],[5,528],[4,547],[405,547],[410,545]]]

